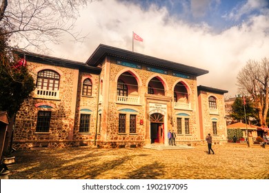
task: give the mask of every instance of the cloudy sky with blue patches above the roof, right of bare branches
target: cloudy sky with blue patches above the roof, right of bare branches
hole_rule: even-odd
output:
[[[269,57],[268,0],[103,0],[81,9],[83,42],[51,45],[51,56],[85,62],[100,43],[209,70],[198,85],[237,94],[246,61]]]

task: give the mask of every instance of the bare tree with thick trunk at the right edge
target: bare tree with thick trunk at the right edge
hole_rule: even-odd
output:
[[[254,108],[257,109],[257,117],[262,127],[267,128],[266,117],[268,114],[268,81],[269,60],[249,60],[246,66],[237,75],[239,90],[248,94],[253,100]]]

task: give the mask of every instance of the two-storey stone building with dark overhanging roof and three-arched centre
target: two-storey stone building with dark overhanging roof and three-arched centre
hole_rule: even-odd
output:
[[[18,52],[18,54],[23,54]],[[27,54],[37,88],[17,113],[15,148],[197,145],[226,141],[223,94],[197,87],[207,70],[99,45],[86,63]]]

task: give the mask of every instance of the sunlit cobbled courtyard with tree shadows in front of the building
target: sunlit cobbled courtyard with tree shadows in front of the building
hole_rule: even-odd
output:
[[[269,179],[269,145],[17,151],[9,179]]]

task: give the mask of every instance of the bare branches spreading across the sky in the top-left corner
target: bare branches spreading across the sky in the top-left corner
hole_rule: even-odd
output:
[[[1,0],[1,34],[10,34],[12,44],[23,42],[26,50],[47,49],[46,43],[59,43],[63,34],[79,40],[74,22],[79,17],[79,6],[90,0]]]

